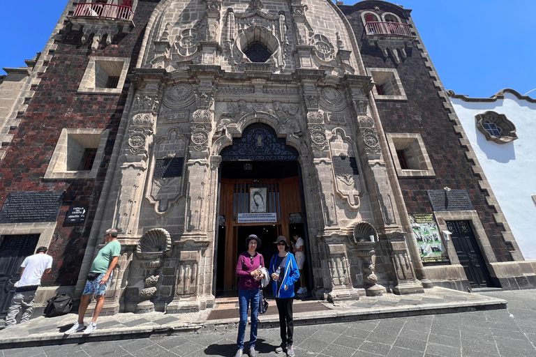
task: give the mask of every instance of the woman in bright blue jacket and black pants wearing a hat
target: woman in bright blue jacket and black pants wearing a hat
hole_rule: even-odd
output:
[[[279,327],[281,328],[281,346],[276,348],[276,354],[286,350],[287,355],[292,357],[292,335],[294,333],[294,319],[292,318],[292,301],[294,300],[294,284],[299,279],[298,265],[292,253],[288,252],[287,238],[278,236],[275,244],[278,254],[271,257],[269,273],[276,297],[277,310],[279,312]]]

